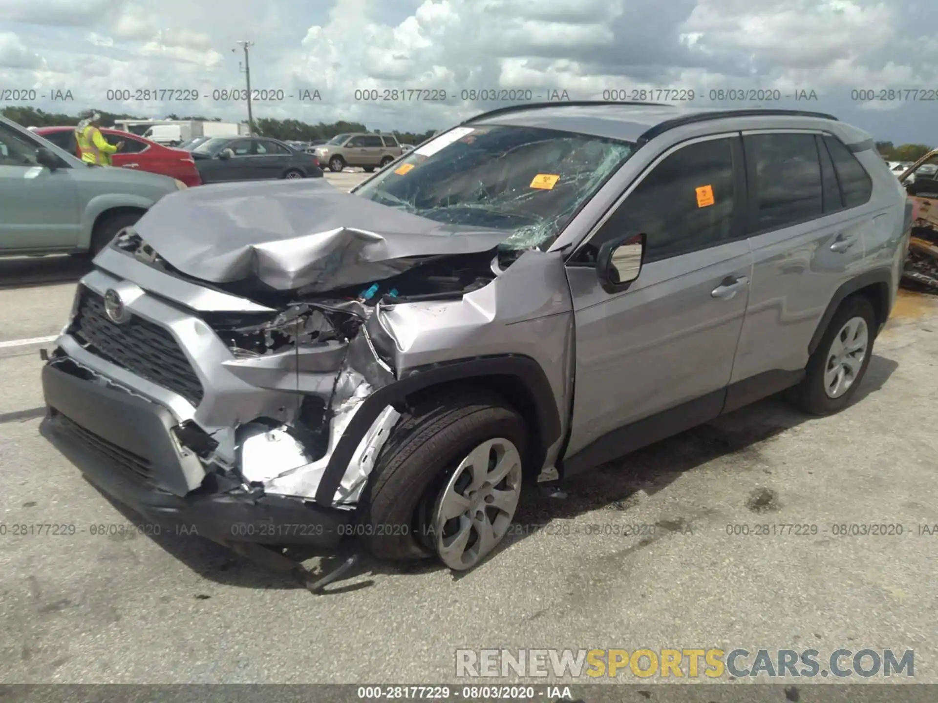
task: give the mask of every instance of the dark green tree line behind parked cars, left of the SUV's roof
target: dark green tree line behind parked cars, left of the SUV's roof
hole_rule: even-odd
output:
[[[96,111],[101,115],[102,127],[113,127],[117,120],[145,120],[146,117],[140,115],[127,114],[123,112],[107,112],[106,110]],[[81,117],[77,114],[65,114],[63,112],[45,112],[31,107],[8,106],[3,109],[4,117],[23,127],[74,127],[79,123]],[[183,115],[171,113],[163,117],[167,120],[197,120],[202,122],[221,122],[220,117],[203,117],[202,115]],[[359,122],[345,122],[340,120],[332,124],[320,122],[318,125],[310,125],[299,120],[275,120],[267,117],[254,120],[254,130],[256,134],[265,137],[272,137],[282,141],[312,142],[317,139],[331,139],[337,134],[348,132],[369,132],[381,131],[379,129],[369,129]],[[426,132],[405,132],[393,131],[398,140],[405,144],[417,144],[430,139],[436,132],[430,129]]]

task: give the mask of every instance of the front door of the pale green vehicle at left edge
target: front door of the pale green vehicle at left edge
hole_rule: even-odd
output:
[[[41,144],[0,123],[0,251],[68,249],[82,232],[78,190],[65,162],[39,166]]]

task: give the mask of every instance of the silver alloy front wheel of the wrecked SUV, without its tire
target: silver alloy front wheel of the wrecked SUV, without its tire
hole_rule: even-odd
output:
[[[478,444],[446,483],[433,511],[436,553],[450,569],[471,569],[502,541],[518,507],[522,457],[510,440]]]

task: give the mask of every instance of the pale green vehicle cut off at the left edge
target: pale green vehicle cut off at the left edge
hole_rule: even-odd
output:
[[[0,256],[97,254],[185,187],[156,173],[86,164],[0,117]]]

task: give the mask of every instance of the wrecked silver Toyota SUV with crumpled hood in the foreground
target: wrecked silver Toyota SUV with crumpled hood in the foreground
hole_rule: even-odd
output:
[[[83,278],[43,432],[116,501],[235,549],[352,534],[468,569],[522,479],[782,390],[846,406],[910,217],[827,114],[486,112],[351,193],[161,200]]]

